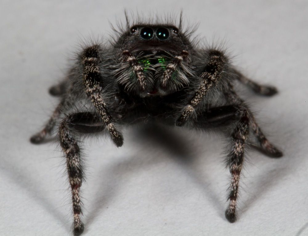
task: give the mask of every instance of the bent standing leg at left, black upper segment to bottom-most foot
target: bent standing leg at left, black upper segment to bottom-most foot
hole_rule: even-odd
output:
[[[84,226],[80,220],[81,201],[80,187],[83,181],[83,167],[80,159],[80,148],[75,136],[77,133],[99,132],[105,128],[99,114],[90,112],[75,113],[63,118],[59,126],[60,145],[65,152],[67,173],[71,185],[74,235],[80,235]]]

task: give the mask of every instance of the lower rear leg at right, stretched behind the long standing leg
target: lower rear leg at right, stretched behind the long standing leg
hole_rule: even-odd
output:
[[[231,102],[232,104],[240,103],[243,106],[245,106],[244,101],[232,89],[231,84],[229,85],[229,87],[231,89],[229,90],[228,93],[225,94],[227,100],[229,100],[229,102]],[[273,157],[281,157],[283,155],[282,151],[280,151],[278,148],[276,148],[273,144],[270,143],[270,141],[265,137],[265,135],[261,131],[261,128],[258,126],[252,112],[250,112],[246,106],[245,108],[249,112],[251,129],[253,133],[256,135],[262,150],[265,151],[265,153],[267,153],[268,155],[271,155]]]

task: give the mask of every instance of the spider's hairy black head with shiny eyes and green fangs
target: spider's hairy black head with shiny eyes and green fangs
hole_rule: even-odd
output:
[[[117,82],[138,96],[166,96],[188,85],[193,49],[180,27],[136,24],[118,39]]]

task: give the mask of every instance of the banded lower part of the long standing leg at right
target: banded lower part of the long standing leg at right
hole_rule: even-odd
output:
[[[231,223],[236,221],[238,185],[244,160],[245,141],[249,133],[249,112],[245,108],[241,108],[241,112],[241,118],[231,134],[232,144],[227,160],[227,165],[231,173],[231,184],[228,196],[229,207],[225,212],[225,217]]]

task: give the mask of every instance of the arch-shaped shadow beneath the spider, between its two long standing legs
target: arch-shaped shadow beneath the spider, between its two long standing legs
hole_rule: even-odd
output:
[[[135,129],[135,132],[135,135],[132,135],[135,137],[133,139],[134,143],[141,142],[140,140],[146,140],[147,144],[150,143],[155,147],[155,149],[162,149],[166,155],[158,155],[155,157],[153,157],[154,155],[151,155],[151,157],[147,159],[135,155],[130,158],[123,158],[124,161],[120,161],[109,167],[108,171],[103,173],[103,175],[106,175],[106,178],[108,176],[108,179],[112,179],[112,182],[107,183],[107,187],[102,188],[101,186],[106,186],[106,180],[104,180],[106,178],[103,176],[100,178],[102,180],[97,185],[98,188],[95,193],[95,199],[91,202],[89,211],[85,215],[86,228],[89,228],[102,209],[107,207],[110,199],[112,199],[116,194],[116,188],[119,187],[120,180],[124,179],[125,175],[129,175],[139,169],[144,169],[145,166],[164,162],[165,158],[171,157],[181,168],[187,170],[188,175],[194,182],[204,189],[205,194],[209,196],[209,199],[216,207],[217,212],[224,212],[225,206],[218,200],[219,193],[213,191],[211,183],[209,183],[208,180],[209,178],[204,178],[204,173],[202,173],[202,178],[198,175],[194,163],[200,154],[198,153],[198,150],[195,149],[196,144],[194,144],[193,140],[187,140],[184,136],[178,135],[172,128],[154,124],[145,125],[139,129],[137,128]],[[205,155],[204,153],[202,154],[202,158],[206,156],[208,155]],[[99,171],[99,173],[102,172],[103,171]]]

